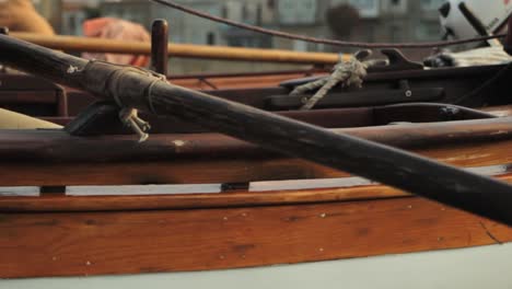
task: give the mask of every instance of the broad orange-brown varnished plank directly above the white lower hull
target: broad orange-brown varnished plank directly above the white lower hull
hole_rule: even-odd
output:
[[[512,229],[420,198],[0,213],[0,278],[212,270],[496,244]]]

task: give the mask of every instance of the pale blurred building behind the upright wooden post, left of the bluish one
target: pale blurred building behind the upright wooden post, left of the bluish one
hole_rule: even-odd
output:
[[[275,22],[274,4],[268,0],[182,0],[183,4],[234,21],[258,26]],[[100,11],[105,16],[116,16],[144,24],[148,28],[154,19],[165,19],[171,27],[171,41],[177,43],[229,45],[271,48],[271,38],[228,25],[187,15],[144,0],[102,2]]]

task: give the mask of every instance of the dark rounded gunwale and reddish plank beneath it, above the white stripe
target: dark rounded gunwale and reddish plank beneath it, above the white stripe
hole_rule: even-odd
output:
[[[336,129],[458,166],[512,163],[509,118]],[[208,157],[208,158],[206,158]],[[342,177],[217,134],[70,137],[0,130],[1,186],[243,183]]]

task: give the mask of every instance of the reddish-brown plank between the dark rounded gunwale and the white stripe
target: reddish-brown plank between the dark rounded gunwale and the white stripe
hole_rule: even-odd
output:
[[[474,167],[512,163],[512,155],[508,153],[511,149],[512,140],[508,140],[411,151],[444,163]],[[345,172],[299,159],[236,155],[104,163],[34,162],[27,158],[25,162],[0,162],[0,186],[244,183],[348,176]]]

